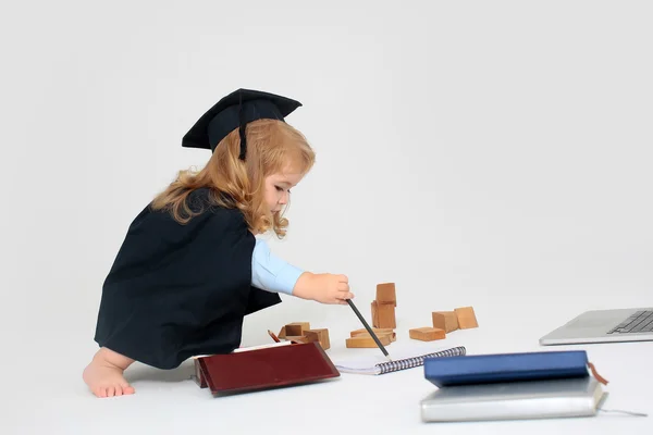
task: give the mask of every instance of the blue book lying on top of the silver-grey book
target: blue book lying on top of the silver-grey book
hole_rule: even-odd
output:
[[[584,350],[428,358],[424,377],[438,387],[587,377]]]

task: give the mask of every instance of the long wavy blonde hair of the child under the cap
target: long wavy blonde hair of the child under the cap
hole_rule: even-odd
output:
[[[245,161],[238,159],[241,138],[236,128],[215,147],[201,171],[180,171],[176,179],[152,200],[151,208],[168,210],[185,224],[201,212],[190,210],[188,196],[208,187],[210,203],[241,210],[254,233],[273,229],[278,237],[285,236],[287,219],[271,213],[266,206],[266,177],[291,167],[306,175],[315,164],[315,151],[300,132],[276,120],[248,123],[246,140]]]

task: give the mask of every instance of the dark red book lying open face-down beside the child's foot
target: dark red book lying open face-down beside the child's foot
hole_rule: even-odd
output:
[[[249,391],[340,376],[318,341],[283,343],[195,359],[197,383],[212,394]]]

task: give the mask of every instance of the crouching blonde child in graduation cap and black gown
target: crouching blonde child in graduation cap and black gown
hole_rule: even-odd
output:
[[[321,303],[354,297],[345,275],[305,272],[255,237],[285,235],[282,208],[313,165],[284,120],[299,105],[239,89],[184,136],[184,147],[212,156],[200,172],[180,172],[130,225],[102,287],[100,349],[83,374],[96,396],[133,394],[123,372],[134,361],[174,369],[233,351],[244,316],[281,302],[279,293]]]

